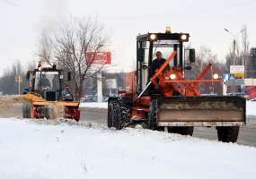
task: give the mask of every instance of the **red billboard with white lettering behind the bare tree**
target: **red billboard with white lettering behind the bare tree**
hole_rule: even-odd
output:
[[[110,52],[87,52],[87,64],[111,64]]]

